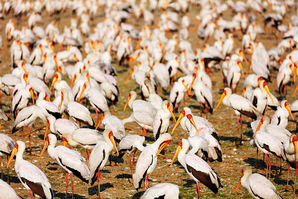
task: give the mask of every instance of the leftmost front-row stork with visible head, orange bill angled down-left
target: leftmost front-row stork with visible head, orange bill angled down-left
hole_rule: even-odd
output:
[[[37,166],[29,161],[23,159],[23,154],[26,149],[26,145],[23,141],[16,141],[10,159],[7,163],[7,168],[10,161],[16,155],[15,158],[15,172],[18,179],[21,181],[23,186],[29,190],[30,196],[34,193],[44,199],[53,199],[54,193],[51,189],[49,180]],[[33,192],[33,193],[32,193]]]

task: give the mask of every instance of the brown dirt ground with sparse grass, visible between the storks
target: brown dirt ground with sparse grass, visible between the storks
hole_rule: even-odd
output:
[[[198,14],[199,7],[190,7],[189,9],[190,17],[191,17],[191,28],[194,27],[194,16]],[[270,10],[269,10],[270,12]],[[285,20],[283,21],[283,24],[287,24],[289,21],[289,18],[292,14],[296,13],[295,10],[292,8],[291,10],[288,9],[287,14],[285,16]],[[155,13],[156,18],[159,16],[159,12],[156,11]],[[42,16],[44,17],[44,24],[42,24],[42,27],[46,27],[46,25],[51,21],[60,20],[59,29],[62,31],[62,28],[64,25],[69,25],[69,19],[72,17],[72,12],[68,10],[66,13],[61,13],[58,16],[47,16],[45,12],[42,13]],[[182,14],[179,14],[181,17]],[[7,42],[4,35],[4,28],[5,24],[9,21],[10,18],[13,18],[13,21],[15,21],[17,29],[21,29],[21,27],[27,22],[29,16],[23,16],[21,18],[14,17],[12,13],[10,13],[8,16],[4,15],[4,20],[0,21],[1,23],[1,31],[0,34],[2,38],[4,39],[3,43],[4,46],[0,48],[0,75],[4,75],[8,72],[12,71],[12,68],[10,67],[10,44],[12,41]],[[233,17],[233,14],[228,10],[228,12],[224,13],[223,18],[227,20],[231,20]],[[102,21],[104,18],[103,13],[99,13],[97,17],[94,19],[94,21],[91,21],[90,27],[93,29],[95,27],[95,24]],[[262,16],[257,15],[258,23],[261,24]],[[133,24],[136,29],[140,30],[141,27],[144,24],[144,21],[140,19],[139,21],[134,20],[132,17],[131,19],[127,20],[126,23]],[[151,28],[155,28],[156,25],[153,24]],[[179,27],[180,28],[180,27]],[[169,33],[167,35],[168,38],[172,36],[173,33]],[[241,46],[241,38],[238,37],[238,33],[235,33],[235,41],[236,45],[238,47]],[[281,35],[279,35],[279,40],[281,39]],[[257,36],[257,40],[262,42],[266,49],[273,46],[277,46],[277,42],[275,41],[274,34],[267,33],[264,36]],[[193,49],[196,48],[202,48],[204,45],[204,42],[199,40],[196,32],[190,32],[189,41],[193,45]],[[210,44],[214,42],[213,38],[210,40]],[[133,41],[134,46],[136,45],[136,41]],[[56,50],[59,50],[58,46],[55,46]],[[83,49],[82,49],[83,50]],[[177,53],[178,53],[177,49]],[[115,57],[115,55],[114,55]],[[246,55],[246,58],[249,60],[250,55]],[[244,67],[244,71],[247,70],[247,64],[245,62],[242,63]],[[135,90],[137,93],[139,93],[138,86],[133,82],[133,80],[130,80],[128,84],[125,84],[125,80],[128,77],[128,74],[130,70],[128,68],[125,68],[125,71],[121,72],[121,67],[119,67],[118,64],[113,63],[113,65],[116,67],[118,71],[117,82],[118,87],[120,90],[120,98],[119,102],[115,106],[115,113],[117,117],[120,119],[127,118],[131,114],[131,109],[127,109],[126,112],[123,112],[123,107],[125,104],[125,101],[128,97],[128,93],[130,90]],[[277,71],[272,71],[271,73],[271,80],[272,83],[269,83],[269,89],[273,95],[275,95],[279,100],[287,99],[289,103],[297,99],[297,95],[293,98],[293,92],[295,89],[295,85],[288,86],[288,92],[285,96],[280,96],[277,93],[277,87],[276,87],[276,75]],[[183,74],[179,73],[179,76],[183,76]],[[177,77],[177,78],[178,78]],[[214,101],[217,104],[221,93],[224,89],[224,84],[222,83],[222,73],[221,71],[215,71],[214,74],[211,76],[212,78],[212,84],[213,84],[213,92],[214,92]],[[240,84],[238,85],[237,94],[241,95],[242,92],[242,84],[243,84],[244,78],[241,77]],[[159,93],[164,99],[169,98],[169,91],[165,93]],[[138,97],[140,98],[140,97]],[[12,114],[10,113],[10,105],[11,105],[11,99],[9,97],[2,96],[2,107],[1,109],[4,110],[11,118]],[[183,107],[183,104],[181,104]],[[190,107],[192,109],[192,112],[194,115],[199,115],[199,106],[198,102],[195,100],[195,98],[191,98],[186,100],[185,106]],[[95,111],[91,110],[92,116],[95,119]],[[273,114],[273,111],[268,111],[268,115],[271,116]],[[175,113],[176,118],[179,116],[179,113]],[[66,115],[63,115],[63,117],[67,117]],[[205,117],[205,115],[203,115]],[[294,115],[295,120],[297,119],[297,116]],[[254,168],[255,166],[255,156],[256,156],[256,149],[252,148],[249,145],[249,141],[252,139],[252,130],[250,128],[250,118],[243,117],[243,145],[240,146],[240,148],[236,149],[235,147],[235,139],[237,136],[237,118],[235,113],[232,111],[232,109],[225,107],[224,105],[220,105],[218,110],[213,115],[208,115],[209,121],[214,125],[214,128],[217,131],[217,134],[219,135],[221,139],[221,147],[223,150],[223,162],[213,162],[208,164],[214,169],[214,171],[217,173],[217,175],[221,178],[221,182],[223,184],[223,188],[221,188],[217,195],[215,195],[213,192],[211,192],[206,186],[203,184],[200,184],[200,190],[201,190],[201,197],[204,198],[251,198],[249,193],[244,189],[242,186],[240,186],[240,189],[238,190],[237,194],[235,194],[235,189],[237,186],[237,183],[240,178],[240,169],[243,165],[249,165],[252,167],[253,172],[261,173],[262,175],[266,175],[266,169],[258,169],[256,170]],[[26,143],[26,146],[28,147],[26,149],[26,152],[24,153],[24,159],[27,161],[30,161],[34,163],[36,166],[38,166],[44,173],[46,174],[47,178],[49,179],[49,182],[51,183],[52,189],[54,191],[55,198],[65,198],[65,174],[62,171],[62,169],[54,165],[52,167],[57,167],[57,170],[49,170],[45,166],[49,162],[55,162],[55,160],[49,158],[49,155],[47,152],[44,153],[43,157],[41,158],[41,161],[38,161],[38,157],[41,153],[41,149],[44,146],[44,130],[41,130],[40,132],[34,132],[32,135],[32,156],[29,155],[29,141],[28,137],[23,137],[21,132],[16,132],[13,135],[11,134],[11,129],[13,127],[13,122],[1,122],[2,129],[0,130],[1,133],[5,133],[9,135],[13,140],[22,140]],[[291,132],[295,132],[295,123],[296,121],[289,121],[287,129]],[[41,121],[36,124],[33,129],[37,129],[40,127],[43,127],[44,124],[41,124]],[[171,131],[173,129],[174,122],[170,122],[169,130]],[[126,127],[133,128],[139,132],[141,132],[141,128],[138,127],[136,124],[130,124]],[[126,134],[134,134],[132,131],[126,131]],[[167,157],[172,158],[173,154],[176,150],[177,144],[181,140],[181,138],[187,138],[188,135],[186,132],[184,132],[180,125],[176,129],[176,131],[173,134],[173,140],[170,142],[170,144],[167,147]],[[153,135],[151,132],[147,132],[146,136],[146,143],[152,143],[154,141]],[[62,145],[61,141],[58,141],[59,145]],[[83,149],[76,148],[76,150],[79,150],[81,154],[86,158],[86,152]],[[260,153],[259,153],[260,154]],[[137,153],[136,157],[139,156],[139,153]],[[258,160],[258,166],[262,165],[261,157],[262,155],[259,155]],[[117,166],[115,166],[115,163],[112,163],[112,166],[105,166],[105,169],[102,171],[101,174],[101,185],[100,185],[100,191],[101,191],[101,197],[103,198],[139,198],[140,195],[144,192],[144,188],[142,185],[142,188],[139,190],[140,192],[136,192],[134,189],[132,178],[130,175],[130,168],[129,168],[129,156],[125,155],[123,158],[117,159]],[[114,160],[114,156],[113,156]],[[275,176],[275,158],[271,157],[271,182],[276,186],[277,191],[283,198],[297,198],[298,196],[293,192],[293,190],[285,192],[285,185],[287,183],[287,165],[283,161],[282,164],[282,175],[281,176]],[[4,159],[4,167],[6,166],[6,160]],[[15,191],[22,196],[23,198],[30,198],[29,192],[21,185],[19,180],[16,177],[16,174],[13,169],[14,161],[10,164],[10,186],[12,186]],[[133,169],[134,169],[133,165]],[[265,163],[266,166],[266,163]],[[3,179],[7,179],[6,175],[6,167],[4,169]],[[290,181],[289,186],[294,186],[294,178],[295,178],[295,172],[294,169],[291,169],[290,171]],[[177,184],[180,189],[179,196],[181,198],[193,198],[196,197],[196,185],[195,182],[187,175],[184,168],[179,164],[178,160],[174,161],[174,164],[172,167],[170,167],[170,163],[164,160],[164,158],[159,158],[157,166],[155,171],[152,175],[149,177],[149,187],[156,183],[163,183],[163,182],[169,182],[173,184]],[[89,184],[83,183],[80,181],[77,177],[74,177],[74,198],[96,198],[97,194],[97,184],[95,183],[93,187],[90,187]],[[293,188],[294,189],[294,188]],[[68,191],[71,192],[71,187],[69,186]],[[71,197],[71,194],[68,194],[68,197]],[[38,196],[36,197],[38,198]]]

